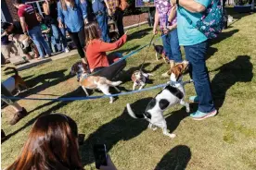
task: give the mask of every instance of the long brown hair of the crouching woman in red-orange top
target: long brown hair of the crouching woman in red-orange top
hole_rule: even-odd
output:
[[[85,34],[85,43],[86,46],[94,39],[99,39],[100,35],[99,35],[99,27],[96,23],[96,21],[94,22],[90,22],[88,24],[86,24],[84,26],[84,34]]]

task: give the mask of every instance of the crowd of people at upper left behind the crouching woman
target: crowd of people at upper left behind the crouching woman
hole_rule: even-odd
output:
[[[124,34],[122,15],[127,7],[125,1],[45,0],[44,16],[36,13],[33,6],[24,4],[22,0],[15,0],[13,5],[18,10],[19,21],[2,23],[1,51],[6,59],[10,58],[10,53],[20,55],[14,43],[20,43],[22,46],[22,41],[19,40],[20,35],[28,36],[32,40],[28,46],[22,48],[21,55],[25,55],[28,60],[32,59],[30,55],[32,51],[34,58],[38,59],[44,59],[58,52],[69,53],[70,48],[67,42],[67,35],[69,35],[85,64],[83,29],[85,24],[96,20],[104,42],[111,41],[109,19],[115,21],[119,35]],[[89,6],[92,6],[93,11]],[[93,19],[89,20],[89,16],[93,16]]]

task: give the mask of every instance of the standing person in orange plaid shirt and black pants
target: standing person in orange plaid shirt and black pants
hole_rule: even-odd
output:
[[[120,0],[105,0],[105,4],[108,8],[109,17],[113,18],[116,22],[119,36],[122,37],[122,35],[124,34],[124,30],[122,23],[123,12],[120,7]]]

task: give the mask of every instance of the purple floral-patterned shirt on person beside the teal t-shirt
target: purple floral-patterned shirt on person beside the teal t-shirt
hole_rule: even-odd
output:
[[[166,28],[166,26],[171,26],[177,23],[177,16],[173,18],[171,23],[168,23],[168,17],[171,12],[171,3],[170,0],[155,0],[156,9],[159,12],[160,16],[160,29]]]

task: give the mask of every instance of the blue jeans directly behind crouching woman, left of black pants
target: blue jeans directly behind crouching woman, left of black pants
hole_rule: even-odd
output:
[[[96,20],[97,20],[98,26],[101,30],[102,40],[104,42],[110,42],[107,13],[102,12],[101,14],[96,15]]]

